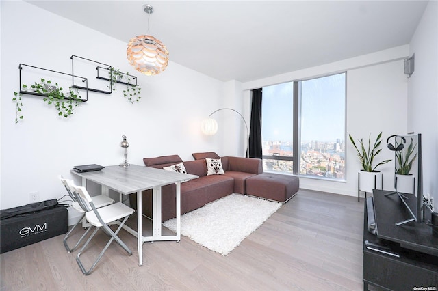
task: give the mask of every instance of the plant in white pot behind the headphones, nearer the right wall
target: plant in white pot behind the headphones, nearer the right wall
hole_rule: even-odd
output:
[[[398,144],[396,143],[396,147]],[[396,151],[396,190],[402,193],[414,193],[415,182],[414,176],[411,174],[413,162],[418,156],[418,152],[415,150],[417,143],[413,143],[411,137],[411,143],[406,148]]]

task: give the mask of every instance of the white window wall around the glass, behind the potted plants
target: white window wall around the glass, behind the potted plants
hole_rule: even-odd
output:
[[[289,72],[242,85],[249,90],[297,79],[318,77],[335,72],[347,72],[346,131],[355,139],[375,139],[383,132],[382,152],[378,161],[394,159],[387,150],[386,137],[407,132],[407,77],[403,73],[403,59],[409,46],[399,46],[369,55],[337,61],[332,64]],[[361,169],[348,136],[346,137],[346,181],[317,180],[300,177],[300,187],[344,195],[357,195],[357,173]],[[394,161],[378,168],[383,172],[383,189],[394,189]],[[361,193],[363,196],[363,193]]]

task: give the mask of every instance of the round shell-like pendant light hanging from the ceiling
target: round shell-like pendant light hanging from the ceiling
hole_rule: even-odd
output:
[[[153,7],[146,4],[143,6],[143,10],[148,14],[147,33],[149,33],[149,17],[153,13]],[[157,38],[148,35],[131,38],[126,55],[129,64],[146,76],[159,74],[166,70],[169,60],[166,46]]]

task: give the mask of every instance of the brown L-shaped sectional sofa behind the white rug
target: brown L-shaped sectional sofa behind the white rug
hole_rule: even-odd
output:
[[[235,156],[219,157],[214,152],[196,153],[193,154],[193,157],[195,158],[194,161],[182,161],[178,155],[143,159],[144,165],[158,169],[183,163],[188,174],[199,176],[199,178],[181,183],[181,214],[201,208],[205,204],[230,195],[231,193],[247,194],[246,182],[250,178],[254,179],[253,188],[260,183],[257,177],[263,173],[263,168],[261,160],[258,158],[240,158]],[[205,158],[220,158],[224,174],[207,176],[207,163]],[[259,192],[253,191],[255,196],[267,199],[279,197],[277,200],[285,202],[298,191],[298,178],[294,176],[287,176],[289,178],[285,178],[279,174],[272,175],[273,176],[270,176],[274,178],[274,180],[270,180],[271,185],[276,184],[275,180],[279,180],[280,184],[284,184],[283,180],[287,180],[286,184],[289,184],[289,186],[277,186],[279,191],[283,191],[283,195],[274,193],[274,196],[272,196],[270,191],[268,191],[268,195],[259,195]],[[279,179],[275,179],[275,176],[278,176],[277,178]],[[260,176],[260,178],[262,177],[263,175]],[[293,186],[290,186],[291,183]],[[175,187],[175,184],[162,187],[162,221],[176,216]],[[284,194],[284,189],[286,188],[289,192]],[[147,217],[152,217],[152,191],[143,191],[142,195],[142,212]],[[136,208],[136,195],[129,195],[129,197],[131,199],[131,206]]]

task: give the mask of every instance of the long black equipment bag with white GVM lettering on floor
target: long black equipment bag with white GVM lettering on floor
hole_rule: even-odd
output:
[[[8,218],[3,219],[3,213]],[[0,253],[38,243],[67,231],[68,210],[58,206],[56,199],[1,210]]]

